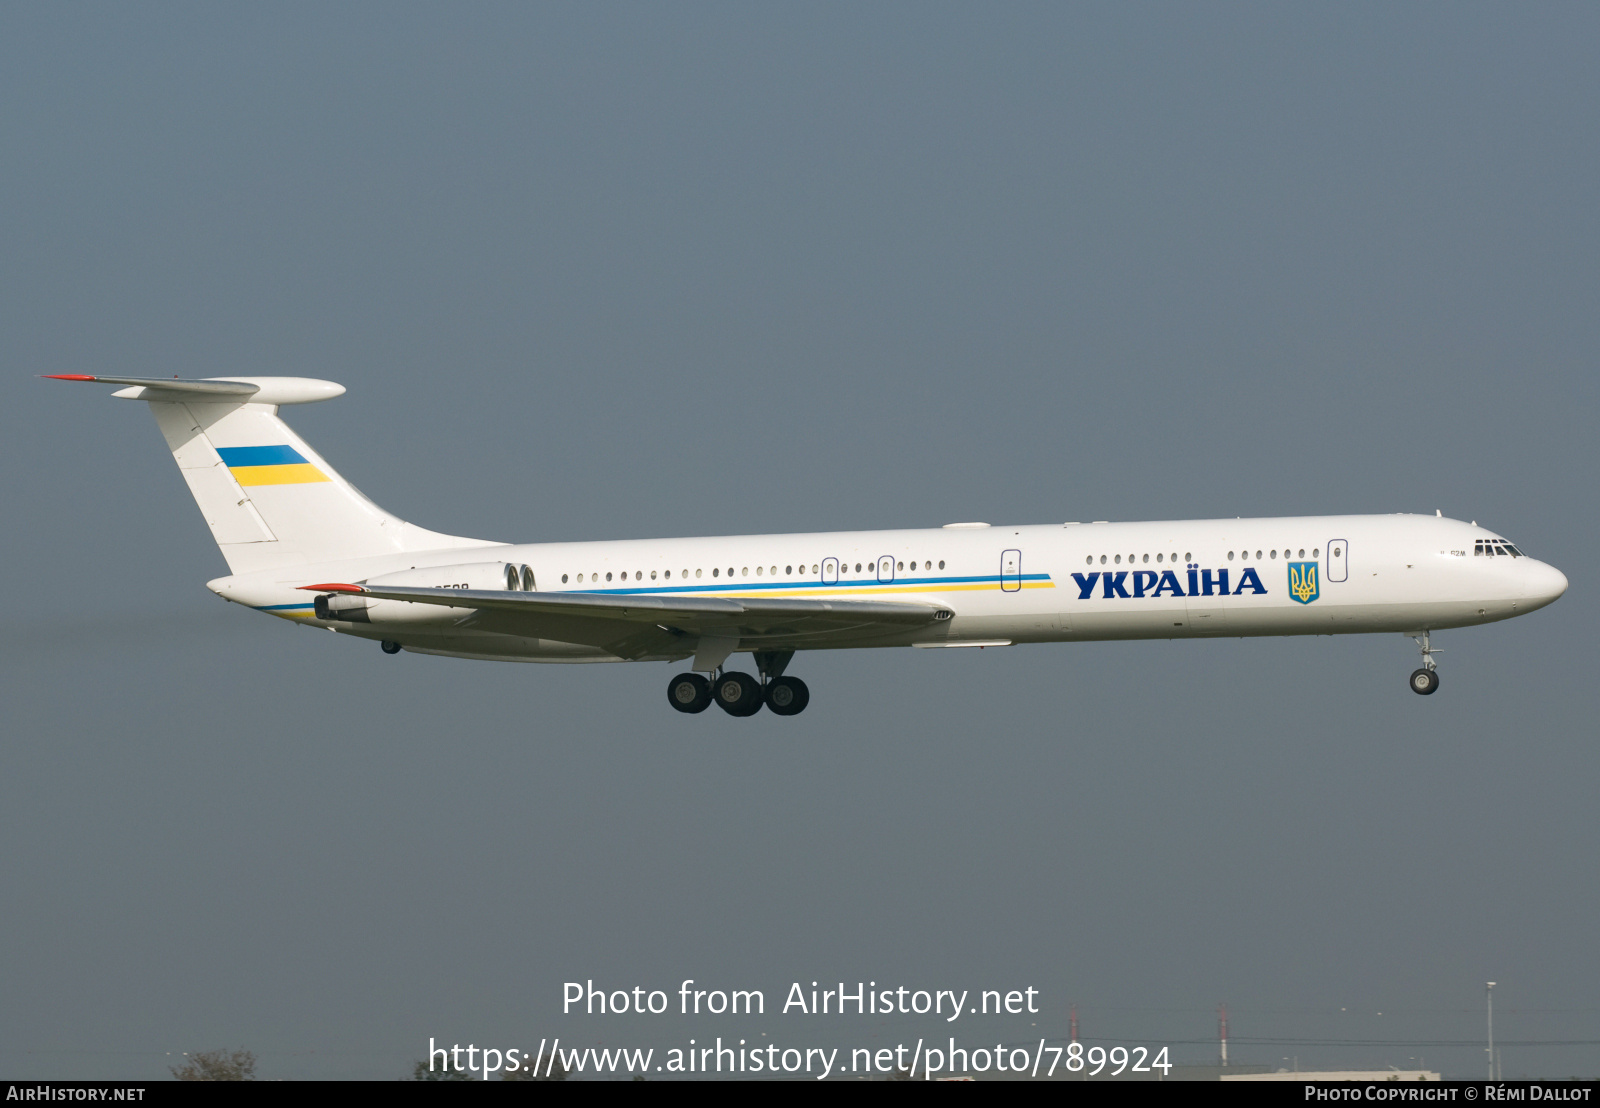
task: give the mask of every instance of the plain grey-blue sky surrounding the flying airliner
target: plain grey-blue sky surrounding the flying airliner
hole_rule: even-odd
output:
[[[718,1033],[563,1020],[590,977],[1035,985],[1003,1038],[1075,1002],[1150,1042],[1219,1001],[1240,1041],[1475,1042],[1498,980],[1506,1039],[1600,1039],[1597,37],[1592,5],[5,6],[0,1076]],[[74,371],[341,381],[291,423],[485,538],[1437,508],[1573,586],[1440,634],[1426,700],[1386,636],[821,653],[800,719],[678,717],[667,666],[224,605],[142,407],[34,378]],[[754,1033],[926,1028],[869,1023]],[[1482,1071],[1234,1057],[1419,1052]]]

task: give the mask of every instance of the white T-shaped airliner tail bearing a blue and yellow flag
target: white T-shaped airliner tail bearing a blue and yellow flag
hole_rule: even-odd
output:
[[[115,395],[147,400],[211,536],[234,573],[347,557],[498,546],[406,524],[366,500],[278,420],[280,403],[312,403],[344,386],[310,378],[107,378]]]

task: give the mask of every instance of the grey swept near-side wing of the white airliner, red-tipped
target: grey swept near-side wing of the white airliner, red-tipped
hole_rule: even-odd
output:
[[[402,586],[307,584],[374,600],[472,608],[458,626],[602,647],[619,658],[690,653],[701,639],[736,640],[742,650],[869,645],[950,618],[934,604],[883,600],[730,599],[510,592]]]

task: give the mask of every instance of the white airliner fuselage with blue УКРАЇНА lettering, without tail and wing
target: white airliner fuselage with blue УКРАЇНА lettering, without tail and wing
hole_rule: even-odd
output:
[[[539,592],[874,599],[954,613],[923,628],[819,644],[826,647],[1422,632],[1507,620],[1566,589],[1560,570],[1494,551],[1509,546],[1493,532],[1434,516],[954,525],[453,548],[235,575],[210,588],[272,615],[398,637],[427,653],[610,661],[616,658],[595,647],[448,624],[397,636],[325,623],[302,586],[493,557],[528,565]]]

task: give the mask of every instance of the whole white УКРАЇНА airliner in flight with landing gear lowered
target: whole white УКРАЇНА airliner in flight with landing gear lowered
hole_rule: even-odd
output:
[[[1477,520],[1301,516],[499,543],[440,535],[363,496],[278,418],[344,394],[285,376],[46,375],[144,400],[227,560],[224,600],[386,653],[683,661],[667,703],[805,711],[802,650],[1402,632],[1526,615],[1566,576]],[[726,669],[750,653],[757,676]]]

